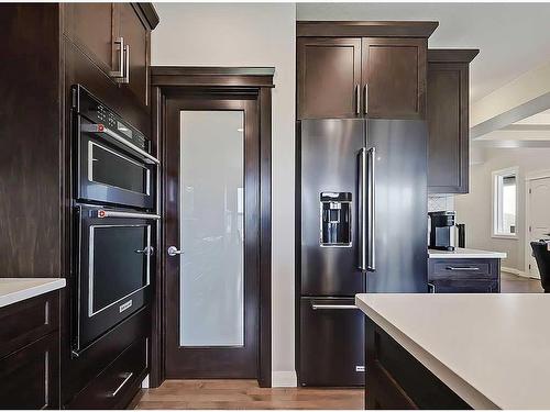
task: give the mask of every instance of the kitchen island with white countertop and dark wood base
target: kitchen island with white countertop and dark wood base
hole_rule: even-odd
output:
[[[549,409],[550,299],[363,293],[367,409]]]

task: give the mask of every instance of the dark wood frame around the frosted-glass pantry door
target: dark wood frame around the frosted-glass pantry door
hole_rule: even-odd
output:
[[[272,179],[272,88],[273,67],[151,67],[152,97],[152,141],[153,153],[164,164],[166,159],[166,98],[189,94],[205,96],[246,96],[257,104],[260,131],[260,329],[257,381],[261,387],[272,385],[272,264],[271,264],[271,179]],[[157,212],[163,216],[165,210],[164,169],[157,178],[161,190],[157,194]],[[165,313],[165,250],[166,242],[163,225],[158,229],[158,259],[154,279],[154,302],[151,339],[151,387],[158,387],[165,379],[164,336]]]

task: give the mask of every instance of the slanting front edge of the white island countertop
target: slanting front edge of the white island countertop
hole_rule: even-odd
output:
[[[501,407],[493,403],[418,343],[394,326],[382,314],[364,302],[360,296],[355,296],[355,305],[472,408],[484,410],[501,409]]]

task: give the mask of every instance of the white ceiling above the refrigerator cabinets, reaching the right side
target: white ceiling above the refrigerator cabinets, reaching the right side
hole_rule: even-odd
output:
[[[480,48],[476,101],[550,60],[550,3],[298,3],[298,20],[432,20],[429,47]]]

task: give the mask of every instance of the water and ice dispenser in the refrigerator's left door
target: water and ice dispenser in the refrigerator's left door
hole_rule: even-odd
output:
[[[351,246],[351,193],[321,192],[321,246]]]

